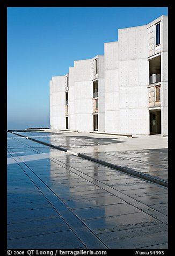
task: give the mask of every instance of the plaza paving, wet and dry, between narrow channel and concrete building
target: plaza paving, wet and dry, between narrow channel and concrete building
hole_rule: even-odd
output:
[[[17,133],[163,181],[168,180],[167,138],[160,134],[127,138],[55,130]]]

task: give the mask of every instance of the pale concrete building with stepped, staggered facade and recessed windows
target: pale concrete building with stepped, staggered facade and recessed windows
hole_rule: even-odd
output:
[[[118,31],[50,81],[53,129],[167,135],[167,16]]]

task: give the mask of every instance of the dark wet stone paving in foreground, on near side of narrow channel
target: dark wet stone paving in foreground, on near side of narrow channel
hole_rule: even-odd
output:
[[[167,188],[8,133],[8,248],[24,245],[167,248]]]

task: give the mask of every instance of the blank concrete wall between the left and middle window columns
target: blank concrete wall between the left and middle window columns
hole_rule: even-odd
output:
[[[69,74],[70,80],[72,79],[70,84],[72,88],[69,88],[69,109],[72,115],[71,118],[69,116],[70,129],[91,131],[93,127],[91,59],[74,61],[72,73]],[[73,100],[74,107],[72,108]],[[74,121],[72,123],[73,116]]]

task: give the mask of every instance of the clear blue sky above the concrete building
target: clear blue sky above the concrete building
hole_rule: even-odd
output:
[[[8,8],[8,129],[49,127],[49,80],[74,60],[104,54],[118,29],[146,25],[164,7]]]

